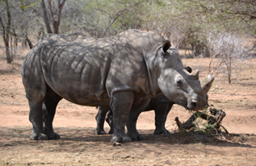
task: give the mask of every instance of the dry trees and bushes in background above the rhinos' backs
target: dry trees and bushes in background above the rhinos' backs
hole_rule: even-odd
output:
[[[245,39],[256,37],[255,20],[254,0],[0,0],[8,63],[45,33],[79,31],[99,38],[136,28],[156,31],[189,50],[187,56],[211,57],[209,73],[225,66],[229,82],[232,68],[239,68],[233,64],[254,50]]]

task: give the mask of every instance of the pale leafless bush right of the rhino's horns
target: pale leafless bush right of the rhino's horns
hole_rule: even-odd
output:
[[[211,60],[209,74],[218,75],[225,73],[229,83],[236,69],[240,70],[244,60],[249,58],[248,43],[236,35],[224,32],[208,35],[208,48],[210,48]]]

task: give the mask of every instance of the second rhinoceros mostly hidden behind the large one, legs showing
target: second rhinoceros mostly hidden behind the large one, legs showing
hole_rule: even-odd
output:
[[[191,73],[192,68],[187,66],[185,68],[187,72]],[[207,97],[208,98],[208,97]],[[143,135],[138,135],[138,132],[136,131],[136,120],[138,116],[141,114],[142,111],[149,111],[154,110],[155,112],[155,131],[153,132],[154,135],[160,135],[160,134],[170,134],[170,131],[166,130],[165,123],[167,115],[170,112],[170,109],[175,103],[167,99],[164,95],[158,95],[155,98],[149,98],[149,103],[147,106],[138,108],[133,108],[132,111],[129,112],[128,115],[128,136],[132,140],[141,140],[144,139]],[[208,106],[208,105],[207,105]],[[109,107],[99,107],[98,114],[96,115],[95,119],[97,121],[97,127],[94,133],[96,135],[104,135],[106,132],[104,131],[104,120],[107,114],[106,121],[111,127],[110,131],[108,131],[108,134],[113,134],[113,114],[111,110],[108,110]]]

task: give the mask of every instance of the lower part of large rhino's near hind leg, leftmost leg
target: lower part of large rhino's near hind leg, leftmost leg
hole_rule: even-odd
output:
[[[29,111],[29,121],[32,123],[33,130],[31,132],[30,139],[36,140],[46,140],[48,136],[44,133],[43,127],[43,114],[42,105],[43,101],[28,101],[30,111]]]

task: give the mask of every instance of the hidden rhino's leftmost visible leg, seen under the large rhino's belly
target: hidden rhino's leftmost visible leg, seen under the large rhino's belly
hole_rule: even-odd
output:
[[[94,133],[96,135],[105,135],[104,131],[104,121],[107,114],[107,111],[110,110],[109,106],[99,106],[98,114],[96,115],[97,127]]]

